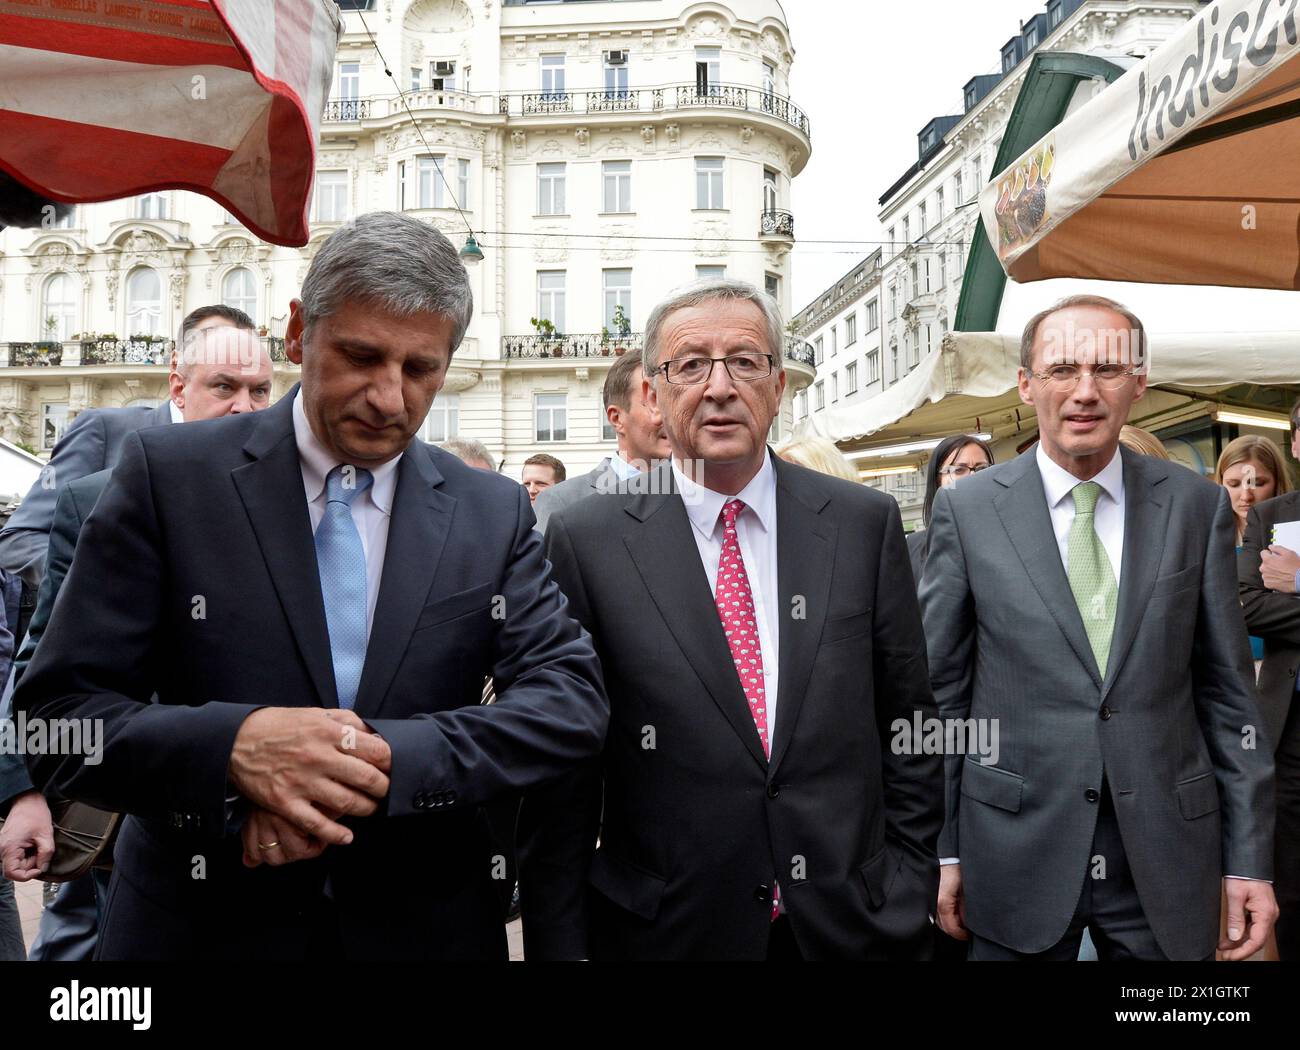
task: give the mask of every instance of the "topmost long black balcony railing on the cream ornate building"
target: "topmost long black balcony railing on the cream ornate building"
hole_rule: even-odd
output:
[[[410,91],[406,104],[421,109],[455,109],[462,113],[500,117],[585,116],[599,113],[668,113],[679,109],[731,109],[762,113],[797,127],[811,138],[807,114],[783,95],[745,84],[670,84],[667,87],[611,88],[603,91],[523,91],[504,95],[472,95],[467,91]],[[402,116],[398,95],[369,99],[330,99],[326,123],[347,123]]]

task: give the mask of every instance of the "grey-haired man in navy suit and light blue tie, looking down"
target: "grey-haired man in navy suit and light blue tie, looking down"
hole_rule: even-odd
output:
[[[607,702],[526,495],[415,439],[471,311],[445,237],[360,216],[292,303],[300,387],[127,438],[14,694],[105,724],[29,756],[130,815],[99,958],[506,958],[480,807]]]

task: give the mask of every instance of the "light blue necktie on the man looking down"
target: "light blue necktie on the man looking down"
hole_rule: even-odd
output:
[[[325,624],[334,661],[338,706],[351,708],[365,664],[365,551],[352,520],[352,500],[374,477],[351,464],[335,467],[325,477],[325,515],[316,526],[316,565],[325,599]]]

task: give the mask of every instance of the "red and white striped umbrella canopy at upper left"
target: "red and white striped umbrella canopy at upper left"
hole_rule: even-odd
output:
[[[68,203],[194,190],[307,243],[333,0],[0,0],[0,170]]]

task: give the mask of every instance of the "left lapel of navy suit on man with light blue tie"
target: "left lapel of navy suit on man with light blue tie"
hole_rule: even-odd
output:
[[[266,573],[317,698],[324,707],[338,707],[316,544],[294,439],[296,395],[295,386],[273,408],[259,415],[257,428],[243,450],[252,463],[237,467],[230,477],[243,500]]]

